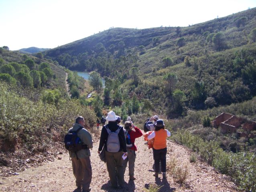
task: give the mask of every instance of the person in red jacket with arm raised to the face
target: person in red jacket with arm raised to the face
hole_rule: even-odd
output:
[[[127,162],[129,162],[129,176],[130,180],[135,180],[134,177],[134,163],[136,158],[135,151],[137,150],[136,145],[134,144],[135,139],[142,136],[141,130],[134,126],[131,121],[126,121],[124,123],[124,129],[126,130],[126,148],[127,148],[127,158],[123,161],[123,171],[125,173],[125,169],[127,167]]]

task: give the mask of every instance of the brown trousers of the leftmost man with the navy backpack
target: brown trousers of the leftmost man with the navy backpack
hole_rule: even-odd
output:
[[[92,178],[90,157],[79,159],[74,157],[71,160],[76,186],[82,187],[83,190],[88,190]]]

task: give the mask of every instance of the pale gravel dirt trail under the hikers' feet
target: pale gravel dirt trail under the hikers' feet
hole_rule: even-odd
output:
[[[95,137],[95,136],[94,136]],[[100,161],[97,150],[99,139],[95,140],[91,150],[91,165],[93,176],[91,182],[92,192],[114,192],[110,188],[110,181],[106,164]],[[218,174],[212,167],[197,160],[195,163],[189,162],[191,152],[174,142],[168,141],[167,162],[175,157],[179,165],[187,165],[188,177],[185,184],[179,185],[171,175],[167,175],[167,180],[155,178],[152,172],[152,149],[148,149],[142,137],[136,139],[138,147],[135,162],[136,180],[129,181],[128,167],[125,173],[125,188],[119,191],[143,192],[149,184],[163,185],[161,192],[233,192],[234,184],[227,180],[227,177]],[[0,191],[12,192],[73,192],[75,189],[75,178],[73,176],[71,161],[67,152],[59,155],[54,162],[48,162],[39,167],[31,167],[20,172],[19,175],[0,178]]]

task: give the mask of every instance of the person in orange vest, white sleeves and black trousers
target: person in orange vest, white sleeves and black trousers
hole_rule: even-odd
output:
[[[159,166],[161,162],[161,171],[163,172],[163,178],[166,178],[166,138],[169,136],[171,136],[171,133],[167,129],[165,129],[164,121],[158,119],[155,124],[155,130],[148,136],[149,140],[154,138],[153,157],[155,164],[155,177],[158,177],[158,173],[160,171]]]

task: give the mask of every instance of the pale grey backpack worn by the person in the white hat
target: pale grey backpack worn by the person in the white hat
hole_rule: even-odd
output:
[[[118,133],[121,130],[122,126],[119,126],[119,128],[115,132],[112,132],[107,125],[105,127],[108,132],[107,150],[108,152],[116,153],[120,150]]]

